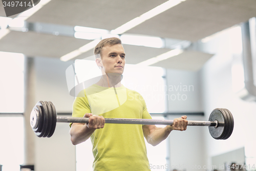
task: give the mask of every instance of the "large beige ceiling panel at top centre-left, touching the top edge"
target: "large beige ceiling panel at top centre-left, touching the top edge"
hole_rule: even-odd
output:
[[[150,3],[146,0],[52,0],[28,21],[113,30],[164,2],[165,0]]]

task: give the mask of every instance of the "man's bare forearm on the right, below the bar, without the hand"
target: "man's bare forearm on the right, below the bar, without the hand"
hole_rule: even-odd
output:
[[[166,126],[164,128],[155,127],[155,129],[150,132],[150,134],[148,134],[147,142],[155,146],[165,140],[172,130],[173,129],[169,126]]]

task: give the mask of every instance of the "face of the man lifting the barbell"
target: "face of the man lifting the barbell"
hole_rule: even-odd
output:
[[[121,44],[104,46],[101,50],[101,60],[106,74],[123,74],[125,53]]]

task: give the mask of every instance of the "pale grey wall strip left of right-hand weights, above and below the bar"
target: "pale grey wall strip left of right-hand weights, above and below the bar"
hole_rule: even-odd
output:
[[[168,112],[203,111],[199,74],[200,72],[194,71],[167,70]],[[168,116],[168,119],[176,117],[180,117],[180,115],[171,115]],[[188,115],[187,119],[204,120],[204,116]],[[204,139],[209,135],[204,135],[204,130],[207,131],[208,128],[188,127],[186,131],[170,133],[170,166],[168,170],[175,167],[178,170],[201,170],[206,165]]]

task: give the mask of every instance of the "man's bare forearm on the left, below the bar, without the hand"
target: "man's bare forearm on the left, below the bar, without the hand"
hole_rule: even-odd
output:
[[[71,142],[77,145],[81,142],[86,141],[93,134],[95,129],[89,129],[87,125],[73,124],[70,129]]]

